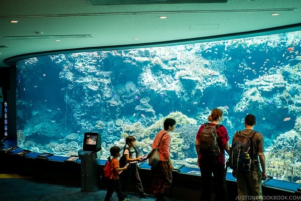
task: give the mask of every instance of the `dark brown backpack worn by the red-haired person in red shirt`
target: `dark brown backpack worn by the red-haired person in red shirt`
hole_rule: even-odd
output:
[[[199,153],[201,155],[217,157],[220,154],[220,149],[217,144],[218,135],[216,132],[219,126],[219,124],[216,126],[209,125],[209,123],[205,124],[199,142]]]

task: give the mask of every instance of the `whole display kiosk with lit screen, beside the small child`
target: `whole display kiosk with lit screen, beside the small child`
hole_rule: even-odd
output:
[[[93,139],[93,142],[89,139]],[[83,149],[78,151],[81,160],[81,190],[93,192],[100,190],[101,174],[97,160],[102,155],[101,135],[85,133]],[[88,148],[86,148],[88,147]]]

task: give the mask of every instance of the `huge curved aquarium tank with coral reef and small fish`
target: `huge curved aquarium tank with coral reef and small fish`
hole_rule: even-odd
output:
[[[267,173],[301,180],[301,32],[210,42],[54,54],[17,63],[17,141],[34,152],[77,155],[85,132],[101,158],[136,138],[147,154],[174,118],[171,158],[197,168],[195,138],[214,108],[230,143],[254,114]],[[226,156],[228,157],[228,156]],[[230,170],[229,170],[230,171]]]

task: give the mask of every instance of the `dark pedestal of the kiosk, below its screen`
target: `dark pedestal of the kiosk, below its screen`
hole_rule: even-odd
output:
[[[100,190],[101,174],[97,160],[100,159],[102,150],[87,153],[82,149],[78,151],[81,160],[81,190],[93,192]]]

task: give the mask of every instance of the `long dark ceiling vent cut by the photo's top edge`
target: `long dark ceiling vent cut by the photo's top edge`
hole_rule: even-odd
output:
[[[210,4],[227,3],[228,0],[86,0],[92,6],[142,5],[142,4]]]

